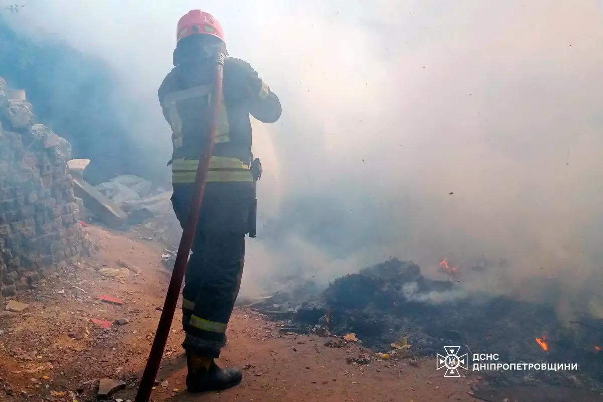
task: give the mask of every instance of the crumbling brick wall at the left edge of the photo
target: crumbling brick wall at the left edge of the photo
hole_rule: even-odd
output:
[[[10,96],[13,95],[13,96]],[[26,289],[87,251],[66,162],[71,146],[0,77],[0,290]]]

